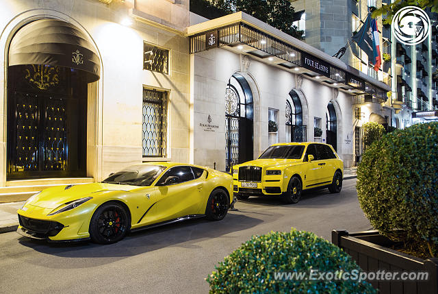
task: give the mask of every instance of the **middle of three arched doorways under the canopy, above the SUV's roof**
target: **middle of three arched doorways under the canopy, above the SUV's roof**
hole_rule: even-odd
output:
[[[291,90],[286,99],[286,138],[289,142],[305,142],[307,140],[306,126],[302,125],[302,106],[300,97]]]

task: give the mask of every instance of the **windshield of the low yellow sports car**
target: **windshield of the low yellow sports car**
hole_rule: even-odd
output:
[[[103,183],[133,186],[151,186],[153,181],[166,169],[160,165],[137,164],[113,173]]]

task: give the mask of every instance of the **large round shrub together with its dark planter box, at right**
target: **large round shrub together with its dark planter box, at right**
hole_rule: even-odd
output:
[[[403,282],[407,293],[438,293],[437,146],[438,123],[394,130],[370,145],[357,169],[357,195],[378,231],[332,234],[365,269],[374,262],[375,269],[427,271],[428,281]]]

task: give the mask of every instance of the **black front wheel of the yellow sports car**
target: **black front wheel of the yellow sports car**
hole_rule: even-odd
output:
[[[95,243],[110,244],[123,239],[129,230],[129,215],[116,202],[102,204],[90,221],[90,238]]]

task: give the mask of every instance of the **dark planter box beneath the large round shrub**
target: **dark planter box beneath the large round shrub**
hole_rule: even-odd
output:
[[[363,271],[428,271],[427,281],[369,281],[379,293],[438,293],[438,258],[422,259],[389,249],[396,244],[378,231],[333,230],[331,242],[352,256]]]

